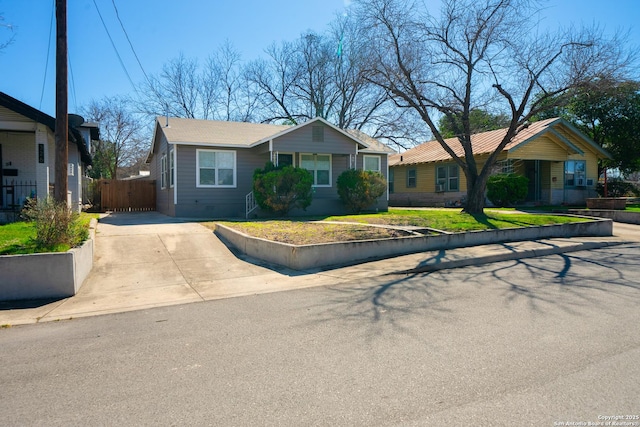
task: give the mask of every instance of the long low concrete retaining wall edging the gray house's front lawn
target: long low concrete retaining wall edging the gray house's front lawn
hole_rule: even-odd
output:
[[[508,228],[441,234],[437,236],[407,236],[394,239],[291,245],[248,236],[221,224],[215,233],[225,243],[243,254],[294,270],[348,265],[365,260],[390,258],[398,255],[439,249],[478,246],[547,238],[578,236],[611,236],[613,222],[592,219],[587,222],[554,224],[542,227]]]

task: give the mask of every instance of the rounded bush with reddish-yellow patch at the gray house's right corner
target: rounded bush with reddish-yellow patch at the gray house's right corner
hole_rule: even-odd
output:
[[[342,203],[356,213],[373,205],[387,191],[387,181],[381,173],[355,169],[342,172],[337,185]]]

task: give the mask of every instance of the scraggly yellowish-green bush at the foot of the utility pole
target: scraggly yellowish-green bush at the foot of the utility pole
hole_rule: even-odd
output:
[[[34,224],[36,247],[43,251],[56,250],[60,246],[74,247],[89,236],[89,230],[80,222],[80,214],[71,211],[66,203],[53,198],[36,201],[28,199],[22,216]]]

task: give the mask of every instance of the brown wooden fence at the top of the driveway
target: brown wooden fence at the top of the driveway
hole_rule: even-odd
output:
[[[141,212],[156,210],[156,182],[149,180],[101,179],[100,207],[104,211]]]

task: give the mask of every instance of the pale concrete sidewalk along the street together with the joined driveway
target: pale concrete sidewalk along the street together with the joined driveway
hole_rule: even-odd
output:
[[[58,301],[0,303],[0,326],[602,248],[640,241],[640,226],[616,223],[614,234],[429,251],[335,269],[295,271],[239,258],[197,223],[156,213],[116,214],[98,225],[94,267],[77,295]]]

